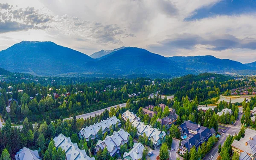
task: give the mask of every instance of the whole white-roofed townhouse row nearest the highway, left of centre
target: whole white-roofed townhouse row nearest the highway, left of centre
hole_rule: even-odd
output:
[[[86,141],[89,141],[89,139],[93,140],[98,137],[97,133],[102,128],[103,134],[105,132],[111,131],[111,128],[118,125],[120,127],[121,122],[119,119],[117,119],[115,116],[105,119],[101,122],[98,122],[94,125],[87,126],[86,128],[82,128],[79,132],[79,137],[85,138]]]

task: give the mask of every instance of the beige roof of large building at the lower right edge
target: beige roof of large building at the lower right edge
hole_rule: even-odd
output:
[[[244,138],[239,141],[234,140],[231,146],[245,151],[247,154],[256,154],[256,131],[247,129],[244,134]]]

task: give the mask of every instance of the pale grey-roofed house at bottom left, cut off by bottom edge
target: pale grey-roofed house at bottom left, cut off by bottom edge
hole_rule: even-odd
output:
[[[15,160],[41,160],[41,158],[38,155],[38,150],[32,151],[23,147],[16,153]]]

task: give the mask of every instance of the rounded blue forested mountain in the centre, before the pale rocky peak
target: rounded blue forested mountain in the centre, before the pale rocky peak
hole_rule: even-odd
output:
[[[184,75],[186,70],[177,67],[176,62],[145,49],[128,47],[112,52],[95,62],[100,72],[110,75]]]

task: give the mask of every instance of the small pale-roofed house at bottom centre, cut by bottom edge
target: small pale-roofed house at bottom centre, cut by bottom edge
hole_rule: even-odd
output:
[[[125,160],[141,160],[144,150],[145,147],[141,143],[134,143],[131,151],[125,152],[123,158]]]

